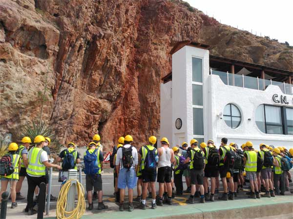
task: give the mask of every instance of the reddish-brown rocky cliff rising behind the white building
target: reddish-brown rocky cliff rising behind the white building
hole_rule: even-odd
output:
[[[160,79],[177,41],[293,71],[286,45],[222,25],[180,0],[0,0],[0,134],[43,119],[62,143],[159,134]]]

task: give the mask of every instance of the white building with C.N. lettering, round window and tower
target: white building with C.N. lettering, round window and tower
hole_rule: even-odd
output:
[[[227,137],[238,146],[293,147],[293,73],[212,56],[207,48],[183,41],[172,49],[172,73],[161,84],[160,136],[171,146],[192,138],[219,146]]]

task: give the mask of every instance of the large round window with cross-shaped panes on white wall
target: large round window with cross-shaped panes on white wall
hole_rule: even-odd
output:
[[[233,104],[228,104],[224,108],[224,121],[230,128],[237,128],[241,123],[240,110]]]

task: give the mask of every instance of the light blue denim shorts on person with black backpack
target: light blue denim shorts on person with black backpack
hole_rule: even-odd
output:
[[[133,189],[136,186],[136,183],[137,183],[137,177],[136,177],[135,169],[133,169],[132,167],[130,167],[129,169],[122,168],[119,171],[118,188],[125,189],[127,186],[128,189]]]

